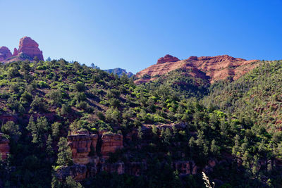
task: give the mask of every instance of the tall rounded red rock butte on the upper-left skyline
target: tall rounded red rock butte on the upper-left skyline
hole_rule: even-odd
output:
[[[20,45],[18,46],[18,53],[23,52],[30,58],[37,56],[39,61],[44,61],[42,51],[38,48],[37,42],[32,40],[30,37],[23,37],[20,39]]]

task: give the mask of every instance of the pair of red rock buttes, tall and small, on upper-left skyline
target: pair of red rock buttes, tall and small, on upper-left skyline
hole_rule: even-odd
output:
[[[23,37],[20,39],[18,49],[15,48],[13,50],[13,55],[7,47],[2,46],[0,48],[0,62],[8,63],[13,61],[23,61],[25,59],[33,61],[35,56],[39,61],[44,61],[43,53],[38,46],[37,42],[30,37]]]

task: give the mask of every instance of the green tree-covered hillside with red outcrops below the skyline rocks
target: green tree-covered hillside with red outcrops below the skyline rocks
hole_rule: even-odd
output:
[[[1,64],[0,187],[204,187],[202,172],[281,187],[282,61],[259,63],[213,84],[183,68],[135,84],[63,59]]]

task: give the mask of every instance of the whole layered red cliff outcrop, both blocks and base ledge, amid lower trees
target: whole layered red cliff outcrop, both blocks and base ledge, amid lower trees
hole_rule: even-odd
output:
[[[97,144],[99,142],[99,144]],[[59,180],[71,176],[74,180],[84,180],[99,172],[125,173],[123,162],[106,163],[109,153],[123,148],[122,134],[88,134],[80,132],[68,136],[68,146],[71,147],[74,165],[57,170]],[[128,166],[128,165],[127,165]]]

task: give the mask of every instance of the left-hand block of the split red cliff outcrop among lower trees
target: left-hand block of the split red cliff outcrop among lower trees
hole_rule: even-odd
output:
[[[68,136],[68,145],[71,146],[73,163],[90,163],[91,149],[96,149],[98,134],[73,134]]]

